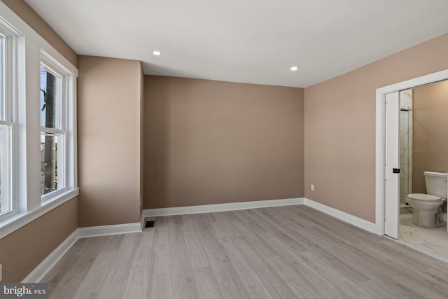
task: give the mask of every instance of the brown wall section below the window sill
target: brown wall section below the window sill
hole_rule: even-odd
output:
[[[0,239],[1,282],[20,282],[78,228],[73,198]]]

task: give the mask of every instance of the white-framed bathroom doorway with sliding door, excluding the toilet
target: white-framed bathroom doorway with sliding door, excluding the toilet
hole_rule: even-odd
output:
[[[446,224],[413,225],[406,202],[426,193],[424,171],[448,172],[447,79],[448,70],[377,90],[376,223],[379,235],[448,261]]]

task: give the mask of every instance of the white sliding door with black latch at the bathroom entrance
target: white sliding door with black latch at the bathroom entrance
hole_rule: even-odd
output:
[[[384,234],[398,239],[400,213],[400,92],[386,94]]]

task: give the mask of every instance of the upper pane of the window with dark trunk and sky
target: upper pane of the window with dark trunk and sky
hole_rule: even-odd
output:
[[[60,129],[60,78],[41,67],[41,126]]]

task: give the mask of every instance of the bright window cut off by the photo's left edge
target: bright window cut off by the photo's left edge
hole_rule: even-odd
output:
[[[0,216],[10,214],[15,209],[12,186],[14,46],[14,36],[8,27],[0,23]]]

